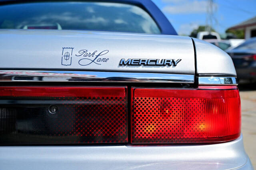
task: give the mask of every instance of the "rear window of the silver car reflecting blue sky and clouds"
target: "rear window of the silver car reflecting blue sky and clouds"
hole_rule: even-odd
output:
[[[109,2],[2,5],[0,29],[99,30],[161,34],[156,22],[142,8]]]

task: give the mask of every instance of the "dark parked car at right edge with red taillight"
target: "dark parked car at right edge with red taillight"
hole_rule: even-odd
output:
[[[233,60],[238,79],[256,80],[256,38],[247,40],[227,53]]]

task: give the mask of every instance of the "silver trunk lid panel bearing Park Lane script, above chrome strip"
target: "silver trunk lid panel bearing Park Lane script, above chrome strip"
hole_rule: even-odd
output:
[[[0,30],[0,68],[194,74],[192,39],[72,30]],[[121,59],[174,59],[175,65],[119,65]]]

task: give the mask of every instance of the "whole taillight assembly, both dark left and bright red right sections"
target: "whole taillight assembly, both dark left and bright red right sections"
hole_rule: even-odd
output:
[[[131,90],[131,142],[240,135],[236,86]],[[0,87],[0,144],[128,142],[127,87]]]

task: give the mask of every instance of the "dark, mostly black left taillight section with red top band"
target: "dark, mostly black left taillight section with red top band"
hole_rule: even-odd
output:
[[[0,87],[0,144],[128,142],[126,87]]]

